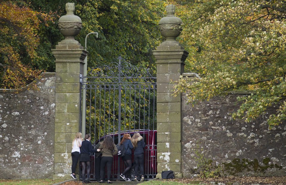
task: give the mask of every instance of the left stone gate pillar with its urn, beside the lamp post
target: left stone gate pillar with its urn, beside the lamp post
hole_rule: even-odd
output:
[[[87,55],[74,40],[82,29],[81,19],[73,13],[74,3],[66,4],[66,12],[58,22],[65,39],[52,50],[56,59],[54,178],[70,178],[71,142],[80,130],[80,75]]]

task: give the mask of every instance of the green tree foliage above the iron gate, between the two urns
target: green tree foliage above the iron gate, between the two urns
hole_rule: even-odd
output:
[[[155,62],[151,51],[160,42],[157,25],[163,1],[86,1],[77,3],[76,10],[83,21],[80,43],[89,32],[99,32],[97,40],[88,39],[88,67],[108,64],[119,56],[133,65]]]

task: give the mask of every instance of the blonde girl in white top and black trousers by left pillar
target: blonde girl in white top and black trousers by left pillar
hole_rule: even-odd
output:
[[[81,142],[83,141],[83,138],[81,137],[81,133],[77,132],[74,140],[72,141],[72,150],[71,150],[71,159],[72,159],[72,165],[71,165],[71,177],[76,179],[75,176],[75,168],[77,167],[77,162],[80,157],[80,147]]]

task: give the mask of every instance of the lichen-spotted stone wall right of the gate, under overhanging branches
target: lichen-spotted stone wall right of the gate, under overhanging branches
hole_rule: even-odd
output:
[[[192,107],[182,95],[182,166],[184,177],[195,176],[196,167],[212,160],[212,169],[222,167],[222,174],[271,176],[285,175],[286,124],[268,129],[271,107],[251,123],[231,120],[236,111],[237,96],[231,94]],[[203,160],[202,160],[203,159]]]

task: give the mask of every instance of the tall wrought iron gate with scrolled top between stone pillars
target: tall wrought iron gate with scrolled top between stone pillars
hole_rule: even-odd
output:
[[[137,68],[117,58],[116,62],[101,68],[92,68],[82,77],[81,92],[86,91],[86,133],[96,145],[110,135],[117,145],[124,133],[131,136],[139,132],[144,137],[144,178],[157,174],[157,132],[156,132],[156,77],[146,68]],[[82,93],[81,93],[82,94]],[[97,179],[95,155],[92,158],[90,179]],[[132,155],[133,161],[133,155]],[[124,170],[121,159],[114,156],[111,179],[119,179]],[[134,178],[134,165],[130,177]]]

